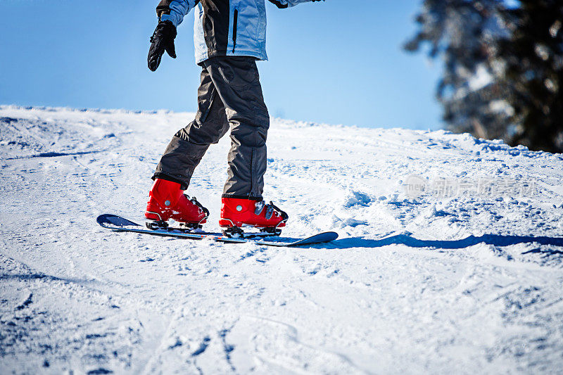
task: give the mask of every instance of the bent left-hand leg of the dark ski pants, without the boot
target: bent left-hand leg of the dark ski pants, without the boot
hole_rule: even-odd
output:
[[[187,189],[191,175],[210,144],[229,129],[229,122],[217,89],[204,67],[198,89],[198,112],[194,121],[180,129],[166,147],[153,179],[167,179]]]

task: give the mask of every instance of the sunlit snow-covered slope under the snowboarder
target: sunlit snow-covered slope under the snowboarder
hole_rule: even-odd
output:
[[[0,107],[0,372],[555,373],[563,158],[467,134],[273,120],[265,198],[313,248],[142,222],[190,113]],[[217,219],[229,139],[189,194]]]

